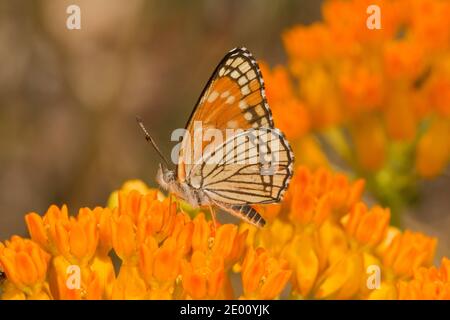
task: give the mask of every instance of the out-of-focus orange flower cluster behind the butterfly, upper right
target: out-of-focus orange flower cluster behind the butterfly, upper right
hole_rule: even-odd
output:
[[[377,1],[379,30],[373,4],[325,1],[323,21],[283,34],[287,66],[262,72],[296,158],[323,165],[325,144],[397,208],[450,161],[450,2]]]

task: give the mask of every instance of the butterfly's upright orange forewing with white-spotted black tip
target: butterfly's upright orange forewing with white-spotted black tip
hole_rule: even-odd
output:
[[[202,156],[194,152],[193,140],[200,132],[195,130],[200,122],[202,132],[215,128],[225,136],[227,129],[274,126],[267,104],[264,82],[256,60],[245,48],[231,50],[218,64],[200,95],[196,107],[186,125],[187,132],[181,143],[177,167],[181,181],[191,174],[193,164]],[[202,137],[199,137],[202,139]],[[211,149],[222,141],[206,141]]]

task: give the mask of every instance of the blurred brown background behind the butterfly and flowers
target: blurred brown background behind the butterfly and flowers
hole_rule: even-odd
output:
[[[68,30],[66,8],[81,8]],[[321,19],[321,1],[0,0],[0,239],[49,204],[106,203],[128,179],[156,186],[162,151],[231,48],[286,63],[281,33]],[[422,182],[405,224],[450,247],[450,178]]]

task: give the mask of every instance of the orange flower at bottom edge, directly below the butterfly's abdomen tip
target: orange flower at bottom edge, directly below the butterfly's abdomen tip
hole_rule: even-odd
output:
[[[249,249],[242,265],[244,299],[274,299],[286,286],[291,271],[284,260],[271,257],[264,249]]]

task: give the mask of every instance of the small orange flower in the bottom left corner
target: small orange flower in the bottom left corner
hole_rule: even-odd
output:
[[[0,243],[0,267],[13,284],[3,294],[10,298],[50,298],[45,282],[49,261],[50,255],[31,240],[13,236],[5,245]]]

